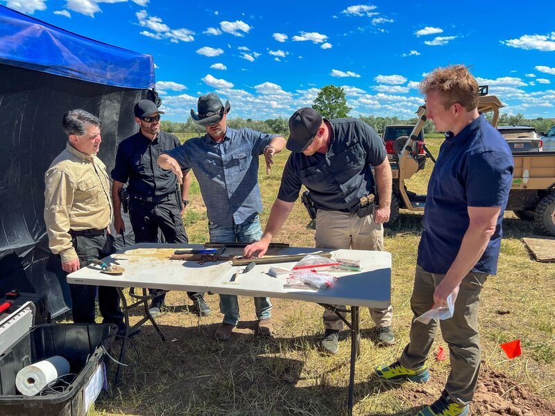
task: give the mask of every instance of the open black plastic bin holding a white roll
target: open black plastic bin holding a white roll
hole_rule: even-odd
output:
[[[103,366],[101,346],[109,349],[117,333],[114,324],[43,324],[31,328],[10,351],[0,355],[1,416],[83,416],[85,388]],[[46,396],[19,395],[17,372],[51,356],[69,361],[76,379],[65,392]],[[88,361],[87,361],[88,358]]]

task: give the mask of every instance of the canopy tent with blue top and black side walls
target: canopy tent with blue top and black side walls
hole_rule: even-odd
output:
[[[46,294],[53,315],[67,311],[43,219],[44,172],[67,143],[62,116],[83,108],[99,117],[99,157],[110,171],[119,141],[137,132],[133,105],[154,99],[154,85],[151,55],[0,6],[0,297],[14,288]]]

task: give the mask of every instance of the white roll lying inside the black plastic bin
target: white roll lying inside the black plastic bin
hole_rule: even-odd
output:
[[[34,396],[58,376],[69,373],[69,363],[62,356],[23,367],[15,377],[15,386],[22,395]]]

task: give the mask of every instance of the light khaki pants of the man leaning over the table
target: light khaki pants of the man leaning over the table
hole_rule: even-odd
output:
[[[374,216],[359,218],[357,214],[318,209],[316,214],[316,248],[345,248],[352,250],[384,250],[384,227],[374,222]],[[333,305],[345,309],[345,305]],[[377,327],[390,327],[393,308],[370,310]],[[324,328],[343,329],[343,321],[329,309],[324,310]]]

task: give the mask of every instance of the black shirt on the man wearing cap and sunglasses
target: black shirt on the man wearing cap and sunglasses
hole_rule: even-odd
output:
[[[128,184],[131,196],[165,196],[176,190],[177,177],[162,169],[156,159],[166,150],[180,146],[179,139],[167,132],[159,132],[149,140],[142,132],[123,140],[116,154],[112,179]]]

